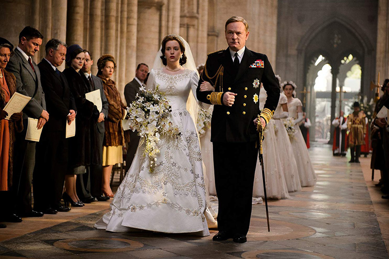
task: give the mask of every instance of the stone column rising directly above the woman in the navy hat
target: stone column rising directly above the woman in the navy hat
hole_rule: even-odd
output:
[[[84,1],[68,0],[66,42],[84,46]]]

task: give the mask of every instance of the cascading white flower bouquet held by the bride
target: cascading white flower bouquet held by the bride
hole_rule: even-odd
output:
[[[177,138],[181,132],[177,125],[173,125],[170,113],[172,108],[164,92],[159,92],[159,85],[154,91],[144,87],[140,90],[137,99],[127,108],[125,118],[128,119],[129,128],[137,130],[141,141],[145,142],[143,156],[149,157],[150,172],[153,172],[159,153],[157,144],[160,136]]]

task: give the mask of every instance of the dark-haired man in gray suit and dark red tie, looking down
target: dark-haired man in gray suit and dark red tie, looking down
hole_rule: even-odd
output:
[[[23,109],[24,130],[16,134],[13,190],[15,192],[16,212],[24,217],[42,217],[43,213],[36,212],[31,207],[31,184],[35,166],[36,142],[25,140],[28,118],[38,119],[37,128],[41,129],[49,120],[46,111],[45,94],[40,83],[39,68],[32,61],[39,51],[43,36],[30,26],[25,27],[19,34],[19,44],[15,55],[9,60],[7,70],[16,77],[17,92],[32,97]]]

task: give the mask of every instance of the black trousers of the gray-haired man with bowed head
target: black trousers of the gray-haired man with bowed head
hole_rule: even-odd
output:
[[[45,132],[36,144],[34,210],[61,206],[68,168],[68,139],[64,131]]]

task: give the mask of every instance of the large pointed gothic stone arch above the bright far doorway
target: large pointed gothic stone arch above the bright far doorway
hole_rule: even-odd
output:
[[[316,22],[301,38],[297,51],[298,67],[301,68],[298,70],[299,74],[297,75],[298,85],[306,85],[308,83],[306,80],[310,64],[320,54],[325,56],[331,65],[332,73],[335,75],[334,81],[336,82],[341,59],[344,56],[352,54],[357,57],[359,65],[362,67],[361,93],[368,95],[369,98],[371,97],[369,82],[374,78],[375,73],[374,48],[370,39],[353,21],[339,17],[338,15],[332,15]],[[307,87],[312,86],[307,85]],[[333,83],[333,92],[331,95],[332,119],[335,118],[335,89],[336,84]],[[313,103],[310,105],[312,106]]]

